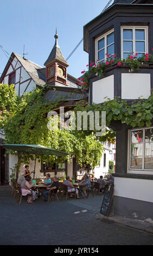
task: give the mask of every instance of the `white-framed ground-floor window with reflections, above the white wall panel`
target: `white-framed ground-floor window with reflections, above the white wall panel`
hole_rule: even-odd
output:
[[[129,169],[153,171],[153,127],[130,130]]]

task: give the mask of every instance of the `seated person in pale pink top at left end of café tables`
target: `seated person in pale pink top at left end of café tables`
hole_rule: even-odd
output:
[[[36,192],[31,190],[31,187],[33,187],[33,185],[35,185],[35,184],[31,183],[31,177],[30,176],[27,176],[26,178],[24,178],[24,180],[21,183],[22,196],[27,196],[32,191],[33,192],[33,200],[35,200],[36,199]],[[31,197],[28,197],[27,203],[30,203],[30,204],[33,203]]]

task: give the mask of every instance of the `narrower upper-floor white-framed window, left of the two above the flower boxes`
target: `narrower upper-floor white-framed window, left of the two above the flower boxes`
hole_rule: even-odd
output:
[[[114,31],[111,30],[95,40],[95,62],[106,60],[106,53],[114,54]]]

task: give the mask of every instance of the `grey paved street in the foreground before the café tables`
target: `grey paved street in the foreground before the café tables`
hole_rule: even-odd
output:
[[[153,235],[100,221],[102,196],[88,199],[42,198],[21,205],[0,191],[0,245],[153,245]]]

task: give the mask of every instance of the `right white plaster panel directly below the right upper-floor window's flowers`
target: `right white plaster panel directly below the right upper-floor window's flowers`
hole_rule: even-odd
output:
[[[122,74],[122,99],[148,99],[150,89],[150,74]]]

